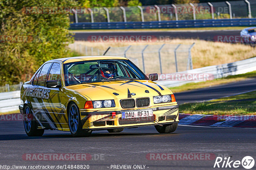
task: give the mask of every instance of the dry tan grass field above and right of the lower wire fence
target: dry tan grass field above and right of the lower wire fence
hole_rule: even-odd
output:
[[[171,42],[166,44],[176,45],[182,44],[184,46],[191,45],[195,42],[195,46],[191,50],[193,68],[219,65],[238,60],[244,60],[256,56],[256,48],[244,44],[230,44],[221,42],[211,42],[204,40],[195,39],[173,39]],[[161,46],[163,43],[106,43],[106,42],[87,42],[87,41],[76,41],[76,44],[84,46],[94,47],[100,49],[100,51],[106,50],[109,46],[111,47],[122,47],[122,46],[145,46],[151,45],[150,49]],[[77,48],[78,49],[78,48]],[[138,54],[139,55],[139,54]],[[139,56],[141,57],[141,56]]]

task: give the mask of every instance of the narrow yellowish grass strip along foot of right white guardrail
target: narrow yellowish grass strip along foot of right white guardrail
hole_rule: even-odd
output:
[[[214,79],[210,81],[201,81],[198,83],[187,83],[182,86],[172,87],[170,89],[172,90],[173,93],[177,93],[181,91],[194,90],[194,89],[221,85],[221,84],[230,83],[234,81],[242,81],[252,77],[256,77],[256,71],[248,72],[245,74],[229,75],[221,79]]]

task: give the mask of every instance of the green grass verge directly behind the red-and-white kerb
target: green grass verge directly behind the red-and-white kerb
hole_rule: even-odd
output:
[[[203,103],[179,106],[180,113],[205,115],[256,115],[256,91]]]

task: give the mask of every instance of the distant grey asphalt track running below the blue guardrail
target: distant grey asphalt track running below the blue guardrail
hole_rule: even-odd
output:
[[[88,40],[90,36],[164,36],[165,39],[169,36],[170,39],[201,39],[213,41],[216,36],[239,36],[241,30],[197,30],[197,31],[95,31],[95,32],[75,32],[75,40]]]

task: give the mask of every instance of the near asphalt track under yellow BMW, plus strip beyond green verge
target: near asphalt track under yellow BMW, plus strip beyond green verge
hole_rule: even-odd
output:
[[[256,79],[230,83],[201,90],[177,93],[179,103],[184,99],[207,100],[255,89]],[[217,95],[215,95],[215,93]],[[196,97],[196,98],[195,98]],[[28,137],[23,121],[0,121],[0,165],[89,165],[89,169],[108,170],[111,165],[145,165],[148,170],[213,169],[215,157],[230,156],[242,160],[256,158],[256,129],[218,128],[179,125],[174,133],[159,134],[154,126],[124,129],[120,133],[93,131],[88,138],[72,138],[69,132],[45,131],[42,137]],[[86,153],[90,160],[26,160],[23,154]],[[149,153],[210,153],[210,160],[150,160]],[[99,155],[101,159],[99,159]],[[156,158],[156,157],[155,157]],[[164,157],[166,158],[166,157]],[[173,158],[173,157],[172,157]],[[154,159],[154,157],[152,157]],[[254,166],[255,167],[255,166]],[[215,168],[216,169],[216,168]],[[219,168],[218,168],[219,169]],[[220,168],[223,169],[223,168]],[[233,168],[229,168],[233,169]],[[241,169],[236,168],[236,169]]]

